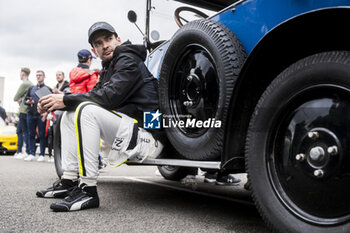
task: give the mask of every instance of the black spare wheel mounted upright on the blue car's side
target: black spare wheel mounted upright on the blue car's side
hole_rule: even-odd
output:
[[[221,121],[219,128],[165,129],[185,158],[220,156],[228,105],[245,56],[232,31],[211,20],[190,22],[171,39],[159,78],[160,109],[163,116],[170,116],[163,119],[186,121],[181,115],[191,115],[196,120]]]

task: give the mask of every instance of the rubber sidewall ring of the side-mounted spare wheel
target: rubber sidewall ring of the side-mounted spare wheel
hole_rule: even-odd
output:
[[[216,68],[219,93],[215,120],[221,120],[221,128],[208,128],[205,133],[197,137],[189,137],[177,127],[165,130],[174,147],[183,156],[190,159],[193,159],[194,150],[198,152],[195,159],[214,159],[221,154],[221,149],[219,149],[219,147],[222,147],[222,138],[229,104],[229,101],[227,101],[229,96],[227,96],[226,78],[232,68],[225,66],[225,62],[223,62],[225,60],[225,51],[220,49],[219,45],[215,43],[215,37],[222,35],[215,35],[212,32],[207,33],[206,30],[208,30],[208,27],[204,24],[205,21],[203,20],[191,22],[182,27],[174,35],[164,56],[160,73],[159,90],[161,112],[166,115],[171,115],[173,113],[171,113],[169,103],[169,82],[177,62],[181,58],[180,56],[186,51],[186,47],[192,44],[198,44],[203,47],[212,57],[212,62]],[[204,27],[206,27],[206,29],[204,29]],[[209,29],[209,31],[210,30],[212,29]],[[234,78],[233,74],[232,77]],[[219,147],[217,146],[218,142],[221,144]],[[212,149],[211,151],[205,151],[205,149],[202,151],[198,150],[198,148]]]

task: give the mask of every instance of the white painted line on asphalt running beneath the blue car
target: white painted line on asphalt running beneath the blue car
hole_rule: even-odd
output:
[[[133,176],[133,177],[129,177],[129,176],[99,176],[99,178],[102,178],[102,179],[115,179],[115,178],[127,179],[127,180],[137,181],[137,182],[141,182],[141,183],[153,184],[153,185],[157,185],[157,186],[161,186],[161,187],[165,187],[165,188],[175,189],[175,190],[179,190],[179,191],[194,193],[194,194],[198,194],[198,195],[202,195],[202,196],[214,197],[214,198],[219,198],[219,199],[223,199],[223,200],[227,200],[227,201],[233,201],[233,202],[238,202],[238,203],[245,204],[245,205],[254,206],[254,203],[250,202],[250,201],[244,201],[244,200],[230,198],[230,197],[224,197],[224,196],[220,196],[220,195],[216,195],[216,194],[212,194],[212,193],[204,193],[204,192],[190,190],[190,189],[181,188],[181,187],[176,187],[176,186],[172,186],[172,185],[161,184],[161,183],[154,182],[154,181],[143,180],[143,179],[147,179],[147,178],[152,178],[152,176]]]

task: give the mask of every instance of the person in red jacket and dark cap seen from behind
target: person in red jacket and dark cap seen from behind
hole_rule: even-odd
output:
[[[71,93],[86,93],[97,83],[98,72],[90,70],[92,58],[94,57],[86,49],[78,52],[79,64],[69,73]]]

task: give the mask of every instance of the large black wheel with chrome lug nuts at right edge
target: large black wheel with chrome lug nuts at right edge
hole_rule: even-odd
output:
[[[350,232],[349,116],[349,52],[302,59],[262,95],[246,168],[257,209],[276,231]]]

